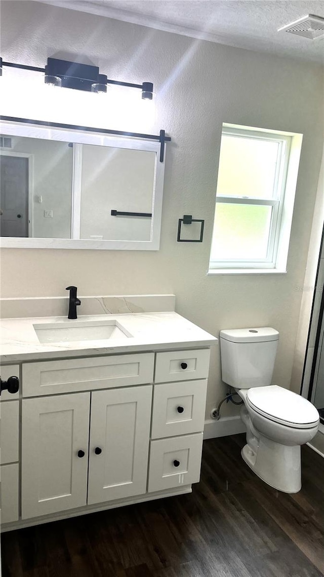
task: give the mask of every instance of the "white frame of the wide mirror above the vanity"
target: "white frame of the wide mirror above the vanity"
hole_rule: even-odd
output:
[[[4,136],[25,136],[27,138],[43,138],[44,140],[56,140],[73,142],[74,144],[94,144],[115,148],[128,148],[155,152],[155,179],[153,183],[152,219],[149,241],[114,241],[94,240],[79,238],[30,238],[30,237],[0,237],[1,248],[31,248],[31,249],[99,249],[99,250],[159,250],[161,216],[163,201],[164,162],[159,162],[160,142],[149,141],[141,138],[114,137],[105,133],[104,129],[71,126],[71,128],[54,128],[52,123],[39,126],[21,119],[22,122],[1,121],[0,133]],[[84,132],[84,131],[87,132]],[[78,183],[81,186],[81,183]],[[72,189],[71,205],[73,208]],[[73,231],[73,209],[71,215],[71,234]]]

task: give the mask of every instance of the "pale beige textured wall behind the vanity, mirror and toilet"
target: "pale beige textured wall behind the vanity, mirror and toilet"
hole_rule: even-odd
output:
[[[172,137],[165,160],[161,249],[4,249],[2,296],[63,295],[69,283],[81,295],[174,292],[176,310],[214,335],[221,328],[277,328],[274,383],[289,387],[301,299],[297,287],[304,279],[322,151],[321,68],[36,2],[3,2],[3,59],[43,66],[55,55],[88,57],[110,78],[155,84],[155,130],[164,128]],[[81,107],[77,91],[73,103],[73,118],[79,115],[82,123],[93,125],[97,111]],[[21,98],[9,104],[17,109]],[[35,104],[28,106],[37,113]],[[51,108],[48,114],[55,112]],[[102,125],[111,122],[108,128],[114,128],[107,107],[101,118]],[[126,130],[137,129],[138,115],[128,122]],[[287,275],[206,276],[223,122],[304,134]],[[142,130],[149,128],[142,120]],[[178,219],[188,213],[206,220],[201,244],[176,242]],[[224,390],[216,347],[207,413]]]

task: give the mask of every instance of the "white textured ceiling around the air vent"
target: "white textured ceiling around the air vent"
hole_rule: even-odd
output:
[[[324,40],[277,32],[324,0],[41,0],[193,38],[324,62]]]

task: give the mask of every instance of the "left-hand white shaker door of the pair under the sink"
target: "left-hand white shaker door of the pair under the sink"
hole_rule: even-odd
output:
[[[22,400],[22,519],[86,505],[90,393]]]

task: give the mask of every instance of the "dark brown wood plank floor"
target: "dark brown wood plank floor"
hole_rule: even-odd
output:
[[[204,443],[192,494],[2,535],[2,577],[320,577],[324,459],[303,447],[287,495],[240,457],[244,436]]]

